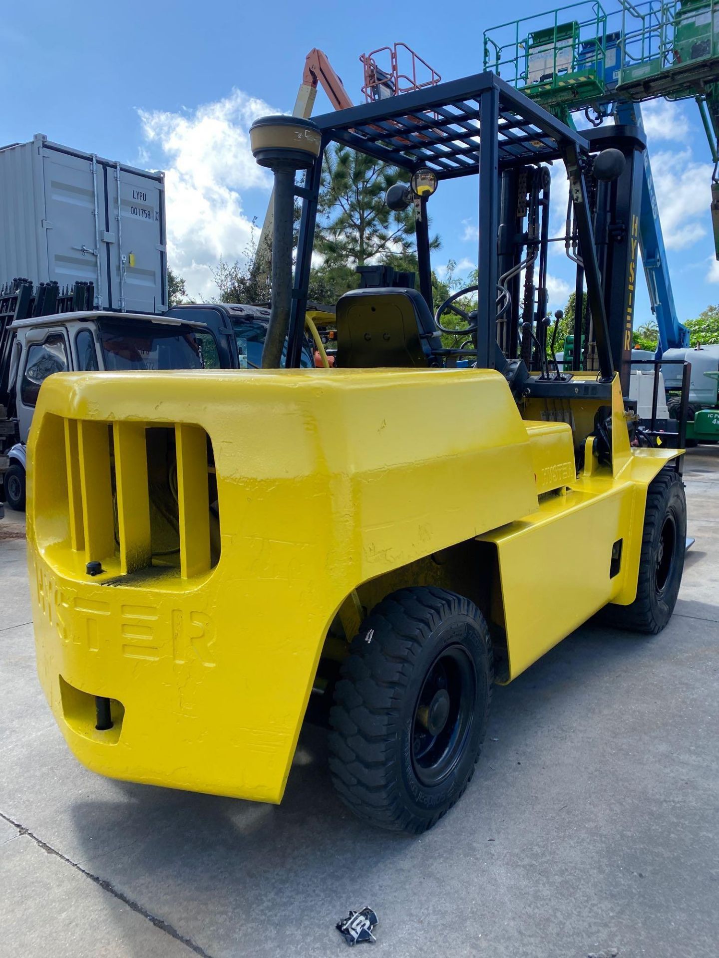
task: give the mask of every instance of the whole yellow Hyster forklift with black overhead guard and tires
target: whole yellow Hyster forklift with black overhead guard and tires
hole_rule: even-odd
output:
[[[264,802],[282,799],[311,700],[328,702],[342,799],[421,833],[473,776],[494,682],[602,609],[658,632],[677,599],[682,449],[632,445],[610,336],[625,315],[607,316],[592,232],[593,184],[611,187],[621,158],[492,73],[314,122],[267,117],[251,143],[275,179],[263,368],[66,374],[40,390],[38,672],[89,768]],[[419,289],[344,295],[336,365],[301,369],[332,143],[406,171],[387,202],[414,208]],[[594,372],[561,372],[547,346],[557,161]],[[478,185],[478,282],[433,315],[428,204],[457,176]],[[452,310],[462,330],[443,326]]]

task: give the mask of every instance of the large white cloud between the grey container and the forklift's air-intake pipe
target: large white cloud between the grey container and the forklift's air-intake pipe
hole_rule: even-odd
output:
[[[276,112],[236,89],[195,110],[139,111],[147,147],[153,156],[159,151],[166,171],[168,261],[194,297],[217,295],[211,266],[220,256],[243,259],[251,221],[242,192],[259,188],[268,198],[271,188],[269,172],[252,157],[247,130],[258,116]]]

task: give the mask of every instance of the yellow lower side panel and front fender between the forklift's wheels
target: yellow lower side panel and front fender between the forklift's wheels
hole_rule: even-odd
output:
[[[556,489],[557,477],[567,474],[571,430],[564,422],[527,421],[526,426],[539,470],[538,492],[544,486]],[[585,467],[562,494],[544,498],[537,512],[519,522],[480,536],[498,549],[507,680],[607,603],[628,605],[637,595],[646,490],[679,453],[632,449],[618,377],[612,384],[612,468],[600,466],[591,453],[591,438],[587,443]],[[611,576],[612,551],[619,540],[621,562]]]

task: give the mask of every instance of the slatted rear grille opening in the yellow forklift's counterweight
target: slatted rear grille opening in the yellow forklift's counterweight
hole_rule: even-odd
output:
[[[69,548],[74,564],[100,562],[110,577],[190,579],[220,559],[214,455],[197,425],[49,416],[34,485],[38,544]]]

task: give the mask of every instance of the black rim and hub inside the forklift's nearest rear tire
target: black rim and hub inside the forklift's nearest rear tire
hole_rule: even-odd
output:
[[[462,646],[448,646],[429,667],[412,720],[412,767],[423,785],[438,785],[459,762],[475,700],[472,658]]]

